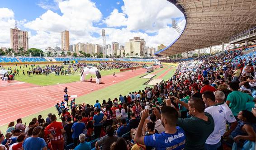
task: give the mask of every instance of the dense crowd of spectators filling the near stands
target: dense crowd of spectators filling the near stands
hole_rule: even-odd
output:
[[[64,100],[46,119],[10,122],[0,150],[249,150],[256,58],[235,56],[181,62],[169,80],[95,104]]]

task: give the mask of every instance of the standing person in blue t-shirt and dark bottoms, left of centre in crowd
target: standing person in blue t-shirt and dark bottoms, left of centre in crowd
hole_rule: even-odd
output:
[[[107,119],[107,117],[100,112],[100,108],[96,109],[97,114],[93,116],[93,125],[94,125],[94,133],[95,137],[100,137],[101,128],[103,125],[104,120]]]

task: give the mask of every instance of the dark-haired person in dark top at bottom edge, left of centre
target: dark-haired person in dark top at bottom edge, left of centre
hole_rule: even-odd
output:
[[[110,145],[112,145],[115,141],[117,141],[118,137],[114,136],[114,128],[112,126],[108,126],[106,128],[107,136],[104,136],[99,141],[95,143],[95,147],[98,150],[109,150]],[[101,147],[101,148],[100,148]]]

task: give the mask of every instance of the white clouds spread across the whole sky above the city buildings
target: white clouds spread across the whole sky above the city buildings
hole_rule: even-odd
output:
[[[44,0],[44,2],[47,0]],[[33,30],[29,31],[29,47],[45,49],[48,46],[60,46],[60,32],[68,30],[70,44],[77,42],[90,42],[102,44],[102,37],[93,37],[93,33],[101,35],[101,28],[97,25],[107,25],[106,41],[119,42],[125,45],[133,37],[141,37],[146,46],[157,47],[160,43],[169,45],[178,33],[170,28],[172,18],[183,16],[180,10],[166,0],[123,0],[121,12],[114,9],[111,14],[102,20],[102,14],[95,3],[90,0],[55,0],[62,14],[47,9],[38,18],[27,22],[18,21],[18,24]],[[48,4],[48,3],[45,3]],[[101,21],[102,20],[102,21]],[[9,28],[15,24],[14,12],[10,9],[0,9],[0,47],[9,47]],[[180,28],[185,25],[185,19],[178,23]],[[116,28],[123,27],[123,28]],[[141,30],[146,33],[140,32]],[[149,36],[147,33],[154,33]]]

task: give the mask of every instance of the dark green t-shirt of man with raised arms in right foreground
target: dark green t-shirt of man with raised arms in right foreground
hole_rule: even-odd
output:
[[[213,117],[207,112],[204,113],[208,121],[198,117],[178,119],[177,126],[181,127],[186,135],[184,150],[204,150],[204,144],[214,130]]]

